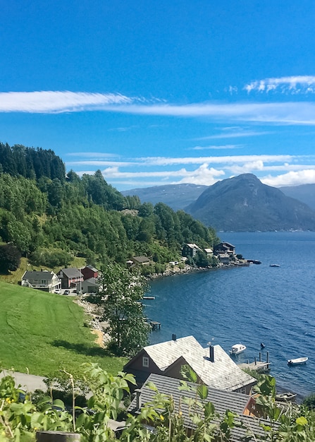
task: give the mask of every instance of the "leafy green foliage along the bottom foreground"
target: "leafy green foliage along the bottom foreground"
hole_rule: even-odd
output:
[[[73,408],[66,411],[61,400],[53,396],[42,396],[35,403],[31,395],[23,395],[22,390],[14,386],[14,379],[6,376],[0,381],[0,442],[35,441],[37,431],[75,431],[81,434],[82,442],[228,442],[233,429],[244,429],[243,441],[273,442],[313,442],[315,441],[315,415],[307,408],[288,408],[285,413],[274,402],[275,382],[266,376],[257,387],[257,403],[266,414],[266,421],[261,424],[263,431],[253,434],[241,417],[229,410],[219,415],[211,402],[207,402],[208,388],[195,388],[195,399],[185,400],[185,390],[192,387],[185,381],[183,401],[189,405],[190,419],[194,426],[192,434],[187,432],[183,414],[175,407],[173,398],[159,393],[154,384],[154,400],[144,404],[136,416],[128,414],[125,426],[120,433],[114,434],[109,426],[109,419],[118,419],[121,403],[129,386],[135,384],[132,375],[118,373],[112,376],[96,364],[83,364],[82,372],[85,385],[91,396],[87,407],[75,405],[76,386],[73,376],[65,371],[73,389]],[[264,393],[264,394],[263,394]],[[255,419],[255,418],[253,418]],[[149,424],[144,425],[144,423]],[[246,432],[247,430],[247,432]],[[234,439],[235,440],[235,439]]]

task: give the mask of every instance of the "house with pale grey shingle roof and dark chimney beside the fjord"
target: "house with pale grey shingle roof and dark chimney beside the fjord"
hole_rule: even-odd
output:
[[[211,388],[249,394],[257,381],[242,371],[220,345],[203,348],[193,337],[148,345],[124,366],[142,386],[150,374],[183,379],[183,365],[197,374],[198,381]]]

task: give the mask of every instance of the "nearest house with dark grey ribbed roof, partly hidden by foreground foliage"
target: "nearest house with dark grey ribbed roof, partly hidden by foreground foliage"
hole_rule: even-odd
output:
[[[152,403],[156,391],[149,388],[149,383],[153,383],[159,391],[159,394],[166,395],[173,399],[173,407],[175,414],[181,414],[183,417],[183,424],[187,429],[188,434],[193,434],[196,428],[194,422],[192,422],[191,414],[192,409],[187,403],[187,400],[196,400],[196,391],[199,386],[197,383],[187,382],[189,389],[180,389],[181,381],[178,378],[171,378],[168,376],[161,376],[159,374],[150,374],[147,382],[140,390],[135,390],[135,397],[133,398],[128,412],[131,414],[137,414],[140,412],[141,407],[146,403]],[[235,426],[230,435],[230,441],[238,442],[241,438],[246,436],[247,429],[251,429],[253,434],[264,436],[264,429],[261,427],[261,423],[270,425],[270,422],[260,419],[261,416],[256,407],[256,402],[253,396],[245,395],[242,393],[234,393],[222,389],[208,388],[208,396],[204,400],[204,403],[211,402],[214,405],[216,413],[223,417],[226,414],[226,410],[230,410],[234,414],[237,414],[237,422],[242,420],[245,426]],[[257,419],[258,418],[258,419]],[[276,424],[278,426],[278,424]],[[246,428],[247,427],[247,428]]]

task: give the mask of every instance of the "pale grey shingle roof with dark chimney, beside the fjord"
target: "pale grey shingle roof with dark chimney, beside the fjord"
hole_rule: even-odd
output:
[[[203,348],[193,336],[148,345],[144,347],[144,351],[161,371],[168,371],[172,364],[183,358],[202,382],[212,388],[237,390],[256,383],[252,376],[233,362],[220,345],[214,345],[214,362],[211,362],[209,348]]]

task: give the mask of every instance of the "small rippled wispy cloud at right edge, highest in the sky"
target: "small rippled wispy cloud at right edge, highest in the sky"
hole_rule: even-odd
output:
[[[315,76],[290,76],[280,78],[264,78],[252,81],[244,87],[247,92],[271,92],[280,90],[283,93],[309,94],[315,92]]]

